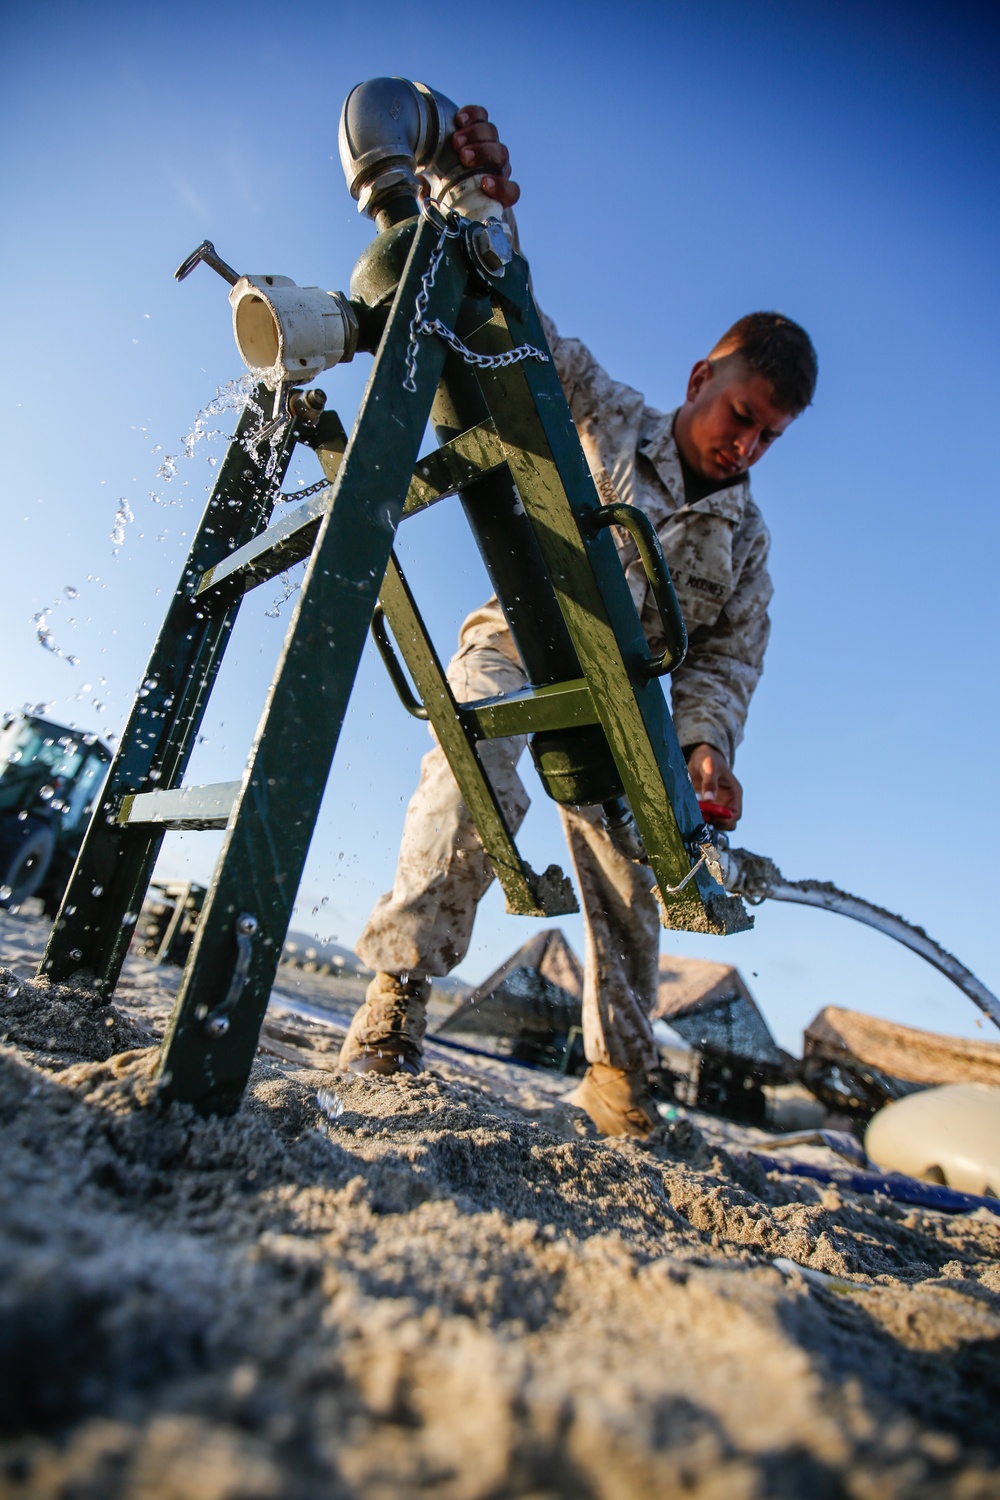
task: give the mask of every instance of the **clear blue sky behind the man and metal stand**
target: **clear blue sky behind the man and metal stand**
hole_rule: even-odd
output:
[[[241,370],[223,284],[171,273],[208,236],[241,270],[346,288],[370,225],[337,162],[340,104],[366,76],[421,78],[487,104],[523,188],[541,304],[652,405],[678,404],[742,312],[780,308],[810,328],[816,404],[754,474],[777,594],[738,758],[741,842],[922,921],[999,990],[991,9],[723,0],[612,20],[511,0],[481,26],[457,14],[1,8],[0,704],[120,728],[222,440],[199,441],[172,480],[157,470]],[[348,423],[367,369],[321,381]],[[307,456],[298,476],[318,477]],[[123,498],[135,519],[115,548]],[[408,525],[400,549],[447,656],[484,594],[457,508]],[[241,770],[291,609],[267,618],[279,594],[244,604],[195,780]],[[61,657],[37,640],[48,606]],[[391,882],[424,748],[369,652],[297,926],[354,942]],[[564,849],[535,792],[523,848],[544,867]],[[216,849],[171,836],[165,868],[205,878]],[[579,920],[561,924],[580,950]],[[490,892],[462,972],[483,978],[537,930]],[[919,960],[823,914],[765,904],[750,936],[667,946],[738,963],[792,1047],[823,1004],[990,1035]]]

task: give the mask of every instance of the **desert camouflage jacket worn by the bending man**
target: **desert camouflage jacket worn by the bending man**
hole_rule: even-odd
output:
[[[646,512],[673,578],[690,636],[687,660],[670,678],[678,740],[717,746],[732,765],[771,630],[771,537],[750,482],[688,506],[673,440],[676,412],[648,406],[637,390],[613,381],[579,339],[562,339],[549,318],[543,322],[601,498],[618,495]],[[661,651],[660,615],[634,543],[618,530],[616,536],[651,650]],[[462,627],[460,646],[478,645],[517,656],[495,600]]]

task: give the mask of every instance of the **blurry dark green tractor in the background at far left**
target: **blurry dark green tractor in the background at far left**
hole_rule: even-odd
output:
[[[111,752],[96,735],[34,714],[0,729],[0,908],[37,896],[54,916]]]

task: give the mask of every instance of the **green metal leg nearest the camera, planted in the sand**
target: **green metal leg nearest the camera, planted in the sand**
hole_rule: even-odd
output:
[[[160,1060],[160,1092],[235,1108],[250,1072],[309,840],[444,363],[412,308],[436,242],[421,224],[334,482],[261,717]],[[453,320],[466,270],[442,260],[429,318]]]

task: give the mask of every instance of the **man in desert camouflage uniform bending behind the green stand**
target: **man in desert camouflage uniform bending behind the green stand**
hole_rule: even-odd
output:
[[[504,147],[475,108],[463,111],[477,165],[507,166]],[[462,117],[459,117],[462,118]],[[496,152],[504,152],[499,159]],[[507,168],[508,172],[508,168]],[[487,178],[489,182],[489,178]],[[507,192],[504,192],[504,189]],[[516,188],[501,176],[499,201]],[[747,470],[808,405],[816,356],[798,324],[751,314],[691,372],[678,411],[648,406],[613,381],[589,350],[546,336],[580,435],[607,502],[639,506],[652,520],[688,627],[690,648],[672,675],[672,712],[696,792],[742,810],[732,772],[747,708],[768,644],[768,530]],[[660,615],[628,538],[619,555],[652,652],[663,651]],[[474,610],[448,666],[459,702],[526,686],[525,669],[496,598]],[[526,738],[480,746],[484,768],[516,832],[528,810],[517,776]],[[559,807],[586,926],[583,1041],[588,1074],[574,1100],[607,1134],[646,1134],[655,1122],[646,1076],[657,1066],[649,1012],[657,996],[660,921],[654,878],[618,852],[600,807]],[[381,897],[357,944],[376,976],[340,1053],[351,1071],[420,1068],[429,978],[462,962],[475,908],[493,872],[444,752],[423,759],[406,812],[393,890]]]

